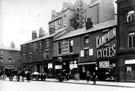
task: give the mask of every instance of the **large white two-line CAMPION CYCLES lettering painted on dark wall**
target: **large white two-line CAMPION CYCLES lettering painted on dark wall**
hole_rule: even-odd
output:
[[[116,37],[116,27],[109,29],[103,36],[96,37],[97,58],[108,58],[116,55],[116,44],[109,44]],[[105,46],[108,44],[107,46]]]

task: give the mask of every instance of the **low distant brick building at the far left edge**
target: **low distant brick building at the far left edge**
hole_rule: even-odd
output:
[[[0,68],[3,70],[18,69],[21,63],[20,50],[0,47]]]

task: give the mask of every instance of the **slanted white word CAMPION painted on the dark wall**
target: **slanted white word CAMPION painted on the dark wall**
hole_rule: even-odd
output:
[[[105,33],[103,36],[97,36],[96,37],[96,48],[99,48],[109,41],[111,41],[113,38],[116,37],[116,27],[109,30],[107,33]]]

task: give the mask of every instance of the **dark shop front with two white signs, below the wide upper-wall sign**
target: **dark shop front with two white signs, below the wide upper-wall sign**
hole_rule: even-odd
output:
[[[75,79],[78,73],[78,55],[66,55],[54,58],[55,76],[64,73],[69,75],[70,79]]]

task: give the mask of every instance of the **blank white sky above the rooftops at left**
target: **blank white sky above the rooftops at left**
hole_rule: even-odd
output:
[[[19,47],[31,40],[33,30],[42,27],[47,33],[51,11],[60,11],[63,2],[75,0],[0,0],[0,41],[4,46],[13,41]]]

